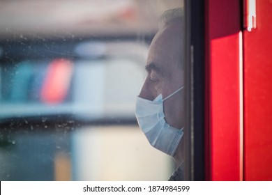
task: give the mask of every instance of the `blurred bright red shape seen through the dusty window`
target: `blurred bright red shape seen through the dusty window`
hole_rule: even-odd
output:
[[[73,62],[56,59],[50,63],[41,89],[42,102],[56,104],[63,102],[68,93],[73,72]]]

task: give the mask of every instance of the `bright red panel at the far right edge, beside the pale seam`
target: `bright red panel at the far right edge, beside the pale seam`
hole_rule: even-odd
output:
[[[272,1],[257,3],[244,31],[245,180],[272,180]]]

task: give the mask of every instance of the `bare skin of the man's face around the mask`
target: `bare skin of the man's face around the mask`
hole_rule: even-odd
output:
[[[162,94],[163,99],[184,86],[181,25],[164,26],[151,42],[146,63],[148,73],[140,98],[154,100]],[[172,127],[183,127],[184,90],[163,102],[166,122]]]

